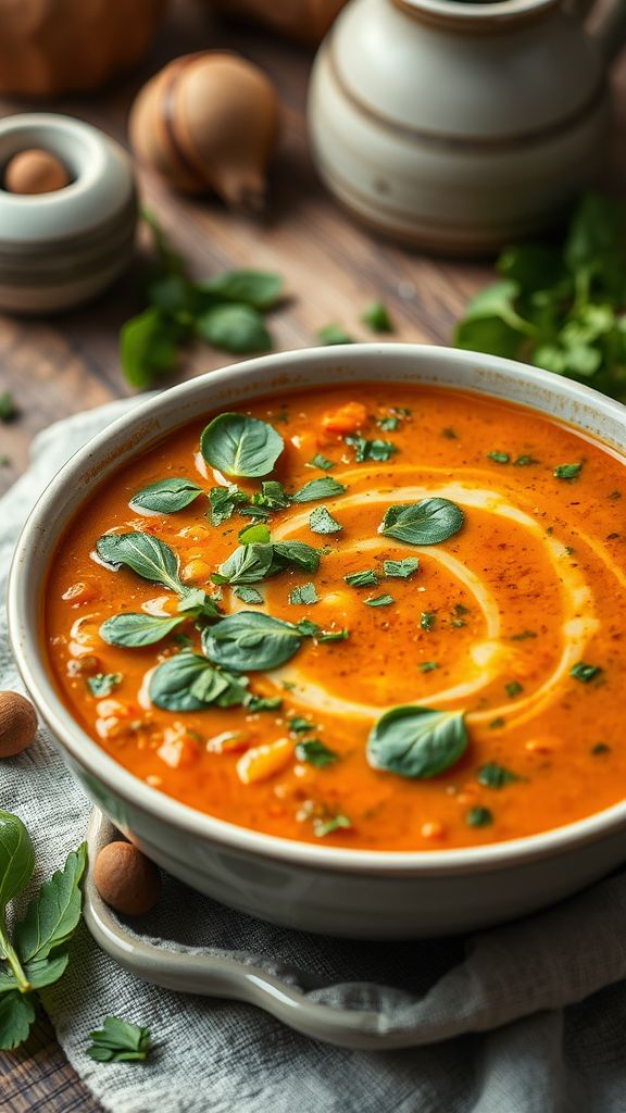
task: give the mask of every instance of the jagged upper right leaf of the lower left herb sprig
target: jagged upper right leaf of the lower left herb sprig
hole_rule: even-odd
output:
[[[48,958],[50,952],[68,943],[80,919],[80,879],[87,866],[87,846],[82,843],[68,854],[66,864],[45,881],[32,898],[14,930],[14,943],[23,963]],[[30,967],[29,967],[30,968]],[[49,972],[50,973],[50,972]],[[40,976],[43,967],[40,968]],[[57,981],[57,977],[51,981]],[[35,988],[35,981],[29,979]],[[51,981],[40,985],[49,985]]]

